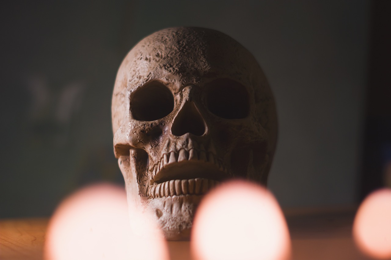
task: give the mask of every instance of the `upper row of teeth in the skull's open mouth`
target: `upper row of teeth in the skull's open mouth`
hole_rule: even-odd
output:
[[[179,154],[175,151],[171,151],[170,153],[163,154],[163,157],[159,160],[157,164],[154,164],[152,171],[152,179],[158,174],[165,166],[175,163],[182,162],[187,160],[197,160],[210,162],[215,164],[220,171],[227,172],[226,168],[222,164],[220,160],[217,160],[217,156],[212,152],[207,152],[205,150],[195,150],[194,148],[186,151],[185,149],[179,150]]]

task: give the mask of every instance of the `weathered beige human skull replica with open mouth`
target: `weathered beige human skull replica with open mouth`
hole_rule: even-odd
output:
[[[273,94],[253,55],[221,32],[168,28],[140,41],[118,69],[112,122],[129,207],[153,212],[169,240],[189,239],[219,182],[266,185]]]

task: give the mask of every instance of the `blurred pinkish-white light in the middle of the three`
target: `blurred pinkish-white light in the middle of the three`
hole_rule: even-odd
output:
[[[287,224],[265,188],[244,181],[222,184],[201,202],[192,237],[195,259],[286,259]]]

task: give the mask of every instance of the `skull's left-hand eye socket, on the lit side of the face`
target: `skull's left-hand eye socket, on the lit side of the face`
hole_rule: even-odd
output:
[[[130,109],[134,119],[154,121],[171,113],[174,97],[163,83],[148,82],[131,96]]]

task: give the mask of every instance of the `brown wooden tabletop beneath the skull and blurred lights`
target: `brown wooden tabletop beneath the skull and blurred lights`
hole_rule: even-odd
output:
[[[292,259],[370,259],[352,239],[356,208],[286,210]],[[42,259],[48,218],[1,219],[0,259]],[[189,242],[170,241],[171,259],[192,259]]]

